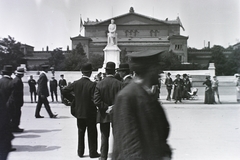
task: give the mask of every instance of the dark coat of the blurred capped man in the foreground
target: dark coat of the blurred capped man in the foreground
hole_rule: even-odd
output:
[[[140,85],[131,83],[113,107],[112,160],[159,160],[171,156],[169,123],[160,103]]]

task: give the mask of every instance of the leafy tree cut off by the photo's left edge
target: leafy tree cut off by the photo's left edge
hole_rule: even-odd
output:
[[[4,65],[12,65],[17,68],[23,61],[24,53],[20,50],[21,43],[16,42],[13,37],[0,40],[0,68]]]

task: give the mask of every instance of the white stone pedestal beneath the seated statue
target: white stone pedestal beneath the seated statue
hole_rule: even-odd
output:
[[[105,73],[105,67],[107,62],[114,62],[116,64],[116,68],[119,67],[120,64],[120,49],[117,45],[107,45],[104,49],[104,62],[103,67],[98,69],[98,72]]]

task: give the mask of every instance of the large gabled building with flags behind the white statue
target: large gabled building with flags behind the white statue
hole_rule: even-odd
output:
[[[180,34],[184,30],[180,18],[159,20],[136,13],[131,7],[129,12],[104,21],[84,22],[85,36],[70,38],[72,49],[80,42],[87,55],[102,54],[107,45],[108,25],[111,20],[117,25],[117,45],[127,53],[141,50],[166,50],[177,54],[182,63],[188,60],[188,37]]]

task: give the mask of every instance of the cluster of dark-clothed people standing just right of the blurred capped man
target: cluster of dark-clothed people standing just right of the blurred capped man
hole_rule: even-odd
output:
[[[175,100],[175,103],[182,102],[182,99],[189,99],[190,95],[189,92],[191,92],[192,83],[189,80],[189,76],[187,74],[183,74],[183,78],[181,78],[180,74],[176,75],[176,79],[173,81],[171,78],[171,73],[167,73],[167,77],[165,80],[165,85],[168,91],[167,100],[171,100],[171,92],[172,88],[173,95],[172,99]]]

